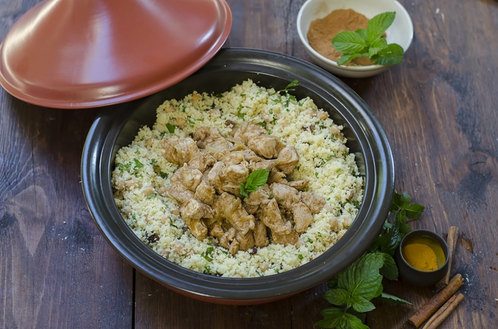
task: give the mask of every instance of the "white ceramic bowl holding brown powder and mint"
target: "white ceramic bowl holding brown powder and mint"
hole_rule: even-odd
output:
[[[297,15],[297,33],[304,48],[314,61],[323,69],[346,78],[366,78],[379,74],[389,67],[384,65],[337,65],[337,62],[319,54],[308,44],[309,24],[319,18],[324,18],[336,9],[353,9],[372,18],[377,14],[394,11],[396,18],[386,30],[388,43],[400,45],[404,52],[408,50],[413,39],[413,23],[404,7],[395,0],[308,0]],[[332,40],[330,41],[332,42]]]

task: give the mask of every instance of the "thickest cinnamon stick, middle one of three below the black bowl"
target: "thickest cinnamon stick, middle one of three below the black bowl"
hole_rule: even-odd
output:
[[[424,305],[422,305],[412,316],[408,318],[415,328],[420,327],[422,323],[425,322],[437,311],[450,297],[458,290],[463,284],[462,276],[457,273],[441,291],[435,294],[431,299],[429,299]]]

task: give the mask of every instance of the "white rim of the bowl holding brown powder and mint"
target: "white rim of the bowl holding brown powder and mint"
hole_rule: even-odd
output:
[[[374,65],[338,65],[335,60],[332,60],[330,58],[325,57],[324,55],[320,54],[318,51],[316,51],[312,46],[309,45],[307,37],[303,34],[303,31],[301,29],[301,20],[304,11],[307,9],[310,4],[315,2],[317,0],[306,0],[306,2],[301,6],[299,9],[299,12],[297,14],[297,20],[296,20],[296,27],[297,27],[297,34],[299,36],[299,39],[301,40],[301,43],[303,46],[306,48],[306,50],[310,53],[313,54],[313,56],[319,58],[321,61],[324,63],[334,67],[337,70],[342,70],[342,71],[348,71],[348,72],[358,72],[358,73],[368,73],[372,71],[378,71],[378,70],[384,70],[385,65],[380,65],[380,64],[374,64]],[[413,28],[413,22],[412,18],[410,17],[410,14],[406,10],[406,8],[403,7],[401,3],[399,3],[397,0],[393,0],[392,3],[397,7],[397,9],[403,13],[404,18],[407,19],[407,23],[409,26],[409,34],[410,37],[408,38],[408,41],[406,45],[403,46],[403,51],[407,52],[407,50],[410,48],[413,42],[413,34],[414,34],[414,28]]]

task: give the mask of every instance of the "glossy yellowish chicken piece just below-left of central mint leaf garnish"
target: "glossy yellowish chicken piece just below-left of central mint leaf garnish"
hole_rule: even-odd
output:
[[[213,208],[216,216],[225,218],[239,234],[245,235],[254,229],[254,216],[245,211],[242,201],[234,195],[222,193],[214,202]]]

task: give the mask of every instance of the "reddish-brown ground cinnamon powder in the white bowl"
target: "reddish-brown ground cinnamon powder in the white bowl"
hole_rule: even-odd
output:
[[[332,46],[332,39],[341,31],[355,31],[358,28],[366,28],[368,18],[352,9],[337,9],[324,18],[315,19],[309,24],[308,43],[321,55],[337,61],[342,53],[336,51]],[[366,61],[365,61],[366,60]],[[366,57],[357,57],[353,63],[348,64],[370,65],[371,61]]]

